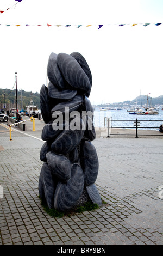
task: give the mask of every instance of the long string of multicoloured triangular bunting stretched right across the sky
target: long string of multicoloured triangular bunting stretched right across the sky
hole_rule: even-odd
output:
[[[15,1],[17,1],[17,0],[15,0]],[[20,0],[19,0],[20,1]],[[22,1],[22,0],[21,0]],[[0,13],[2,13],[3,11],[0,11]],[[143,24],[143,23],[131,23],[131,24],[103,24],[103,25],[95,25],[95,24],[93,24],[93,25],[52,25],[52,24],[49,24],[49,23],[47,23],[46,25],[45,24],[0,24],[0,26],[2,25],[4,25],[4,26],[7,26],[7,27],[9,27],[9,26],[17,26],[17,27],[19,27],[19,26],[47,26],[47,27],[51,27],[51,26],[57,26],[57,27],[73,27],[73,26],[76,26],[77,28],[80,28],[80,27],[84,27],[84,26],[86,26],[86,27],[91,27],[91,26],[97,26],[97,28],[98,29],[100,29],[100,28],[102,28],[103,26],[120,26],[120,27],[122,27],[122,26],[125,26],[125,25],[128,25],[128,26],[131,26],[131,27],[134,27],[134,26],[136,26],[136,25],[143,25],[144,27],[147,27],[148,25],[155,25],[155,26],[159,26],[159,25],[161,25],[162,23],[145,23],[145,24]]]

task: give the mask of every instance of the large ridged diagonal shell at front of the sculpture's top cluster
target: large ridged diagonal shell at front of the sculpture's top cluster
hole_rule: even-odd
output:
[[[82,90],[84,93],[90,91],[89,78],[75,58],[66,53],[59,53],[57,63],[68,84],[77,90]]]

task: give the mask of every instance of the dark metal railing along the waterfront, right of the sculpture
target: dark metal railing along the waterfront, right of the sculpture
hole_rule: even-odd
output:
[[[133,126],[113,126],[113,121],[133,121],[134,124]],[[110,135],[134,135],[134,134],[129,134],[129,133],[111,133],[111,129],[114,129],[114,128],[118,128],[118,129],[135,129],[135,138],[138,138],[138,129],[159,129],[159,127],[151,127],[151,126],[140,126],[140,123],[142,121],[162,121],[161,119],[159,120],[143,120],[143,119],[140,119],[138,120],[137,118],[134,120],[134,119],[112,119],[112,117],[110,118],[107,118],[107,117],[104,117],[104,127],[105,127],[105,123],[107,123],[107,129],[108,129],[108,136],[107,137],[110,137]],[[161,124],[161,123],[160,123]],[[127,131],[127,130],[126,130]],[[146,130],[144,130],[146,131]],[[148,130],[148,134],[139,134],[141,136],[163,136],[163,133],[159,132],[158,134],[149,134],[149,130]]]

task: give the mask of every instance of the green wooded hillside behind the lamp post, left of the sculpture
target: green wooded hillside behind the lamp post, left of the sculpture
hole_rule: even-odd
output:
[[[4,97],[5,93],[5,97]],[[0,89],[0,109],[4,109],[4,100],[6,109],[16,107],[16,90]],[[18,109],[26,109],[30,100],[33,100],[34,105],[40,108],[40,94],[38,92],[26,92],[25,90],[17,90]]]

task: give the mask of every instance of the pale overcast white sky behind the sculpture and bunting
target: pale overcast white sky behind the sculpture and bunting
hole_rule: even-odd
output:
[[[162,0],[0,0],[0,11],[0,88],[12,89],[17,71],[17,89],[40,92],[51,52],[77,51],[92,73],[92,104],[163,95]]]

